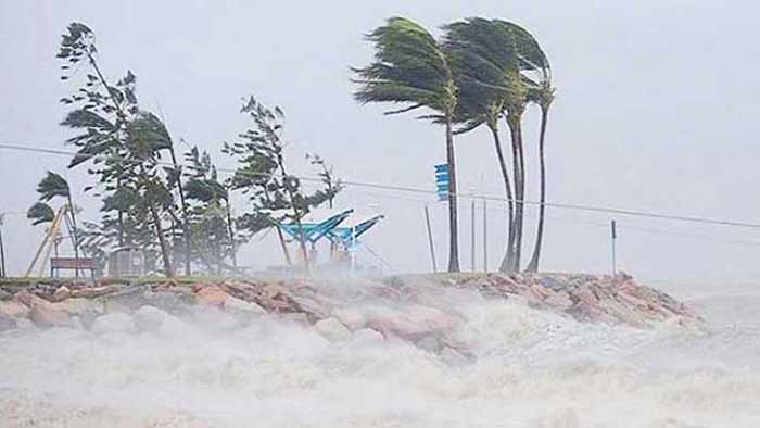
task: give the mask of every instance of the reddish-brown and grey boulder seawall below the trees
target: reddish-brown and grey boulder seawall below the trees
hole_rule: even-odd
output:
[[[401,339],[435,352],[467,357],[449,332],[460,315],[426,290],[517,300],[579,322],[651,328],[669,322],[698,326],[685,304],[626,275],[456,274],[370,279],[155,280],[140,284],[5,282],[0,286],[0,331],[76,328],[130,333],[181,328],[185,319],[223,314],[230,325],[261,316],[311,326],[329,340],[349,336]],[[451,302],[449,302],[451,303]],[[217,318],[218,319],[218,318]]]

